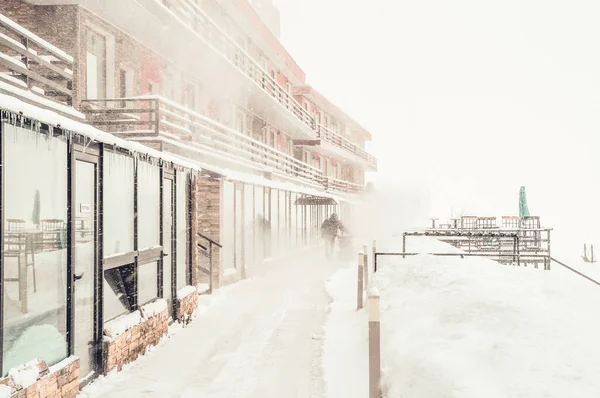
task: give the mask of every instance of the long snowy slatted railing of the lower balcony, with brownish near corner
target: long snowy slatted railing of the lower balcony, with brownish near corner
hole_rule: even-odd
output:
[[[123,138],[162,137],[225,163],[323,186],[321,170],[160,96],[83,101],[89,123]]]

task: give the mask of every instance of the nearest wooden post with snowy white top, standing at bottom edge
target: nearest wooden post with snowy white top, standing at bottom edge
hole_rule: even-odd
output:
[[[369,291],[369,398],[381,398],[381,320],[379,292]]]

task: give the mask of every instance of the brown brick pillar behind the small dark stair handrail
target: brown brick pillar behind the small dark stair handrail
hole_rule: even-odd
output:
[[[208,257],[204,251],[197,247],[197,243],[206,246],[204,239],[199,239],[197,232],[208,236],[216,242],[221,240],[221,181],[209,177],[198,177],[194,182],[192,193],[192,242],[195,250],[196,261],[194,269],[197,273],[197,283],[208,283],[208,276],[198,273],[198,265],[209,268]],[[213,288],[221,284],[221,255],[218,248],[213,252]],[[193,276],[193,275],[192,275]]]

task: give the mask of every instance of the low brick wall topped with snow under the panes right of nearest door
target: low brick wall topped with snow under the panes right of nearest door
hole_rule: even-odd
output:
[[[166,302],[163,309],[151,315],[146,313],[145,307],[105,324],[102,352],[104,373],[115,368],[120,371],[123,365],[143,355],[147,347],[157,345],[169,331],[169,310]],[[128,319],[133,321],[129,322]]]

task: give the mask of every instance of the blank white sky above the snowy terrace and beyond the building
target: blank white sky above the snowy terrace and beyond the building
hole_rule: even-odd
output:
[[[373,133],[375,181],[427,184],[441,217],[515,214],[525,185],[532,213],[600,222],[600,2],[274,3],[309,83]]]

